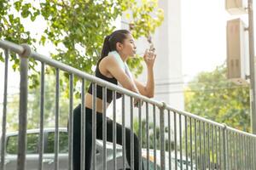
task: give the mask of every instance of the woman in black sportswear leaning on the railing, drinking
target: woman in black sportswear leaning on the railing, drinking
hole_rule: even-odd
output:
[[[151,51],[146,51],[143,58],[148,68],[148,82],[144,86],[143,83],[138,82],[131,77],[131,72],[125,64],[129,57],[134,57],[136,54],[136,46],[130,31],[118,30],[107,36],[104,40],[102,48],[102,56],[96,66],[96,77],[100,77],[105,81],[119,84],[123,88],[127,88],[137,94],[142,94],[148,98],[154,96],[154,59],[155,54]],[[128,71],[127,71],[128,70]],[[117,99],[121,94],[117,94]],[[90,170],[91,160],[91,144],[92,144],[92,85],[88,93],[85,95],[85,169]],[[107,91],[107,106],[113,100],[112,91]],[[102,87],[96,87],[96,138],[102,139]],[[73,112],[73,169],[80,169],[80,120],[81,105],[76,107]],[[122,126],[116,123],[116,142],[122,144]],[[113,141],[113,121],[107,119],[107,140]],[[125,128],[125,153],[126,158],[131,165],[131,130]],[[137,135],[134,134],[134,169],[139,169],[138,154],[139,141]]]

